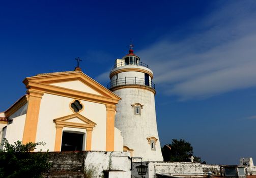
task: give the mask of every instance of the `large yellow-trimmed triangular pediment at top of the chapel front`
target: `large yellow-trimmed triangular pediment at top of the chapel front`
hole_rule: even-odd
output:
[[[33,77],[25,78],[23,83],[26,85],[26,88],[35,86],[37,90],[44,90],[47,92],[76,92],[79,96],[81,96],[80,93],[90,94],[110,99],[114,103],[118,103],[121,99],[91,77],[78,71],[38,74]]]

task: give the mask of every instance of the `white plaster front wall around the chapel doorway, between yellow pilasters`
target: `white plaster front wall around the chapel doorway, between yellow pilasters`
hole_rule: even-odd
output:
[[[44,141],[46,145],[38,146],[38,150],[54,151],[55,118],[73,114],[70,103],[74,98],[44,94],[41,99],[36,142]],[[92,132],[92,150],[105,151],[106,147],[106,107],[103,104],[81,101],[84,109],[81,115],[96,123]],[[75,130],[74,128],[71,128]]]

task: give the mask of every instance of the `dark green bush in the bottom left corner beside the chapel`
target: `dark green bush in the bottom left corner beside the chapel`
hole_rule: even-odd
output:
[[[22,144],[17,141],[13,145],[4,139],[2,145],[4,149],[0,150],[0,178],[42,177],[41,174],[51,167],[47,153],[33,152],[36,146],[45,145],[44,142]]]

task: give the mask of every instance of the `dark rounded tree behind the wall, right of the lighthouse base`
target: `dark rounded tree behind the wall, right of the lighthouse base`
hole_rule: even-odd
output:
[[[162,147],[163,161],[190,162],[193,147],[184,139],[173,139],[172,144]],[[194,157],[194,162],[201,162],[200,157]]]

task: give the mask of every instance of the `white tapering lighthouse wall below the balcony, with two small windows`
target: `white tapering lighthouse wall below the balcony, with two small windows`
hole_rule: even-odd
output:
[[[117,104],[115,126],[122,132],[124,145],[133,149],[133,157],[144,161],[163,161],[157,132],[155,96],[153,92],[140,88],[123,88],[114,91],[122,100]],[[134,115],[132,104],[143,106],[141,115]],[[157,138],[156,150],[151,150],[147,137]]]

